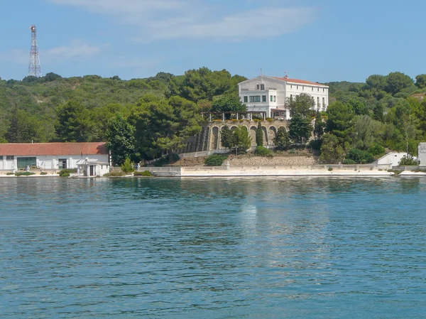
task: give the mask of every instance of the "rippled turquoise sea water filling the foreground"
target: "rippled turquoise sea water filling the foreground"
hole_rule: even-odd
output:
[[[0,178],[1,318],[425,318],[426,178]]]

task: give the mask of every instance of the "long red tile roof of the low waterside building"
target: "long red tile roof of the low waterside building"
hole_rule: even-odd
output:
[[[96,155],[108,154],[105,142],[92,143],[4,143],[0,155],[45,156],[45,155]]]

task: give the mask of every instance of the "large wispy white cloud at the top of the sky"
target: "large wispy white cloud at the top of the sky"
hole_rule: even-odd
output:
[[[114,16],[138,27],[139,40],[165,38],[216,38],[245,40],[292,33],[315,20],[315,8],[290,7],[278,1],[246,0],[231,6],[202,0],[48,0],[86,11]],[[244,2],[243,2],[244,3]],[[271,4],[267,6],[266,4]],[[236,11],[239,10],[239,11]]]

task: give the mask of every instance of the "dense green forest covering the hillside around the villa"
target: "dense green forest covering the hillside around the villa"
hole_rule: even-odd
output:
[[[200,131],[200,112],[244,109],[237,98],[243,80],[207,67],[133,80],[55,73],[0,80],[0,142],[109,141],[121,148],[117,163],[126,154],[135,160],[171,154]],[[392,72],[371,75],[364,83],[327,84],[327,112],[299,114],[310,99],[292,102],[290,136],[283,135],[285,143],[276,141],[282,148],[307,142],[301,136],[313,131],[310,147],[322,152],[322,161],[364,163],[384,148],[416,155],[418,142],[426,141],[426,75],[413,80]],[[312,117],[315,126],[307,122]]]

